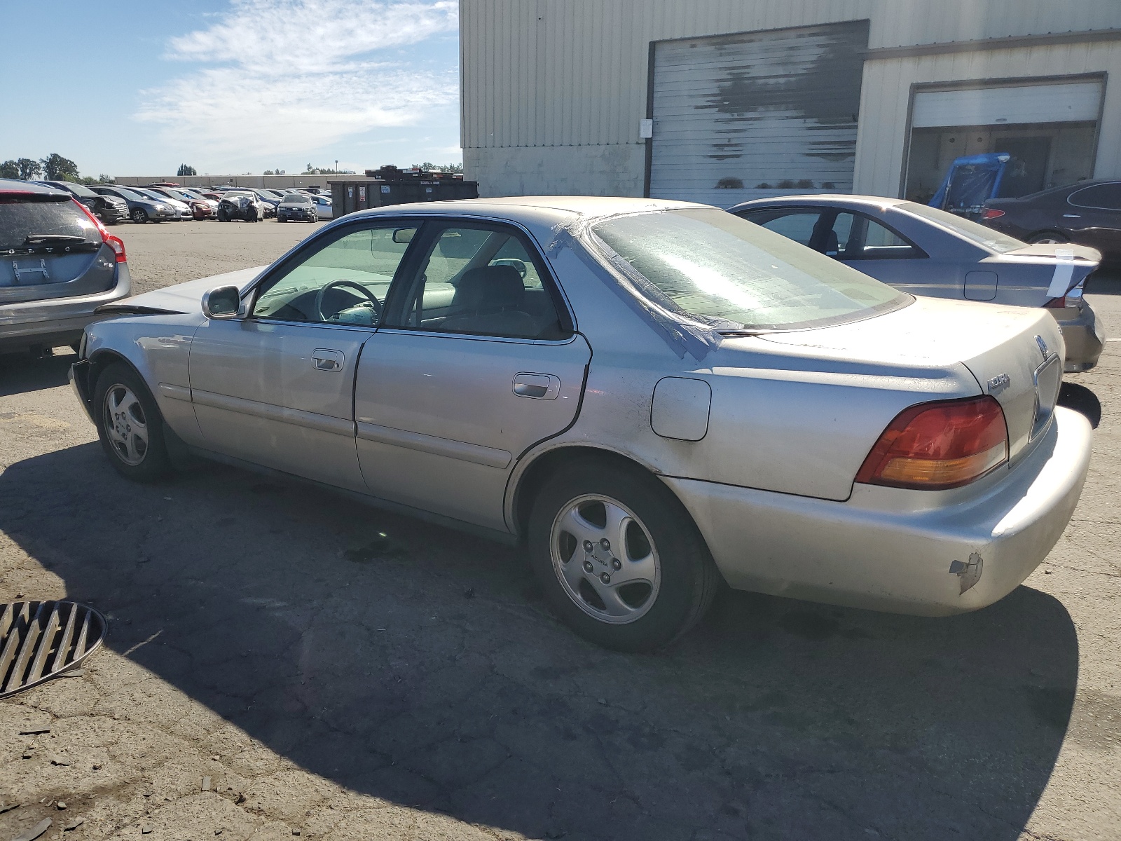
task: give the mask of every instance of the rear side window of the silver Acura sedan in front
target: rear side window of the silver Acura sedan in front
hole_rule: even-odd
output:
[[[483,224],[448,227],[427,251],[396,326],[513,339],[563,339],[543,264],[521,234]]]

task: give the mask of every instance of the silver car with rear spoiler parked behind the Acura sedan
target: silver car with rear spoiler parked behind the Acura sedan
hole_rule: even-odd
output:
[[[1066,343],[1065,370],[1097,364],[1105,336],[1082,297],[1102,256],[1085,246],[1038,243],[937,207],[867,195],[756,198],[729,209],[915,295],[1046,307]]]

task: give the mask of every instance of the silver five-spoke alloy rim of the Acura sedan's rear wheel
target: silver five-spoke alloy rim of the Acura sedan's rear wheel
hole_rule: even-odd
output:
[[[549,552],[565,593],[601,622],[633,622],[658,598],[661,563],[650,532],[615,499],[568,501],[553,520]]]

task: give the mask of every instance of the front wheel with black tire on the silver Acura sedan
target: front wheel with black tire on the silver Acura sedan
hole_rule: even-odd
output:
[[[131,368],[114,362],[101,372],[93,389],[93,416],[101,447],[118,473],[136,482],[154,482],[168,473],[164,418]]]

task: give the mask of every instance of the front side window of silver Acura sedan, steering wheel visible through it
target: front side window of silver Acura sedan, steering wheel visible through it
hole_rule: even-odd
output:
[[[300,256],[262,285],[254,318],[374,325],[416,228],[365,228]]]

